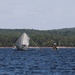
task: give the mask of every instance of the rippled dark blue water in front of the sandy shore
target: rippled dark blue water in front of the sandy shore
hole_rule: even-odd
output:
[[[0,48],[0,75],[75,75],[75,48]]]

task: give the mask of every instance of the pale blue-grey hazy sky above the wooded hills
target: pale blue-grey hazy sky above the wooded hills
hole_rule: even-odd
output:
[[[0,28],[75,27],[75,0],[0,0]]]

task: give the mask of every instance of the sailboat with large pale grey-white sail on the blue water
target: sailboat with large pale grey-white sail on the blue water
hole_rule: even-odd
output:
[[[18,50],[27,50],[29,47],[29,36],[26,33],[23,33],[16,42],[16,48]]]

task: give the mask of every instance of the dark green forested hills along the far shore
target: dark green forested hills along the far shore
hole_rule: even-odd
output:
[[[17,39],[24,32],[30,37],[30,46],[52,47],[54,42],[58,46],[75,46],[75,28],[64,28],[56,30],[0,29],[0,47],[15,46]]]

